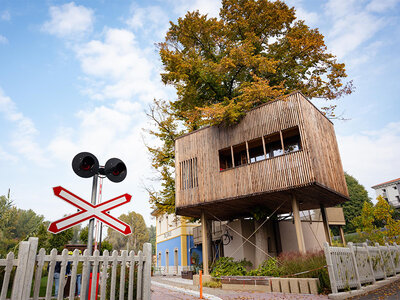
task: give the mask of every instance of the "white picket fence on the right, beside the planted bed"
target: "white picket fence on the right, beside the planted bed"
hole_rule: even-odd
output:
[[[375,283],[400,273],[400,247],[396,243],[380,246],[331,247],[324,244],[332,293]]]

